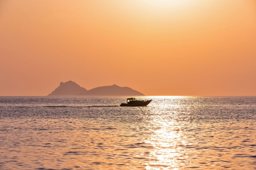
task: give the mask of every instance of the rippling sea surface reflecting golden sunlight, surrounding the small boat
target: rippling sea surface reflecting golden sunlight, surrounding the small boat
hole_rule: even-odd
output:
[[[256,97],[0,97],[0,169],[256,169]]]

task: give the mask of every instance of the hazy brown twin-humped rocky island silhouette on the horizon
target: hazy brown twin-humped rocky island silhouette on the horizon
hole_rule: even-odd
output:
[[[60,82],[51,94],[47,96],[145,96],[130,87],[120,87],[118,85],[96,87],[90,90],[79,86],[73,81]]]

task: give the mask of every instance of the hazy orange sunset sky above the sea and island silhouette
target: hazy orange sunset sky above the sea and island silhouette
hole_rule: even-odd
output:
[[[0,95],[256,95],[255,0],[0,1]]]

